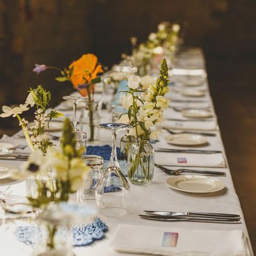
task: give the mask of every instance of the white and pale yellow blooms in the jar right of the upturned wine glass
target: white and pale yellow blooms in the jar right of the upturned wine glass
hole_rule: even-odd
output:
[[[152,131],[154,125],[163,121],[163,111],[168,108],[169,99],[165,98],[168,92],[168,66],[166,60],[161,63],[159,78],[156,83],[149,86],[148,90],[138,89],[140,77],[129,76],[128,91],[123,91],[122,106],[128,110],[120,116],[119,122],[130,124],[130,136],[141,140],[156,140],[159,131]],[[139,93],[143,93],[140,97]]]

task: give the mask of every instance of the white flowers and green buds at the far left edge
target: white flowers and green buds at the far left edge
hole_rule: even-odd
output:
[[[46,108],[49,105],[51,100],[51,93],[47,92],[41,85],[36,89],[29,89],[29,95],[24,104],[19,106],[3,106],[3,113],[0,117],[13,116],[17,117],[19,120],[19,125],[22,127],[24,136],[28,142],[29,147],[32,151],[40,150],[43,153],[46,153],[47,148],[51,147],[53,144],[47,136],[45,131],[45,125],[49,126],[52,118],[58,118],[63,116],[63,114],[58,113],[57,111],[52,110],[49,113],[46,113]],[[20,114],[24,111],[28,111],[29,108],[35,107],[35,119],[34,124],[30,125],[25,118],[21,118]]]

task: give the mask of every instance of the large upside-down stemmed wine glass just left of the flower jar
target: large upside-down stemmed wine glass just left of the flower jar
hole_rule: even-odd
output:
[[[116,134],[129,125],[120,123],[100,124],[99,128],[112,132],[111,157],[95,189],[95,199],[100,214],[108,217],[123,216],[127,212],[130,186],[120,170],[116,156]]]

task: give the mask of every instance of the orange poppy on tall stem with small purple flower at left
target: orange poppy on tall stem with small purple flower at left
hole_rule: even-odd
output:
[[[93,102],[95,84],[100,83],[100,74],[103,72],[102,65],[98,63],[98,58],[94,54],[83,54],[81,58],[73,61],[68,68],[61,70],[57,67],[35,64],[34,72],[39,74],[47,69],[58,70],[61,74],[60,77],[55,79],[59,82],[70,81],[73,87],[83,96],[88,98],[86,108],[89,111],[90,122],[90,141],[94,140],[94,127],[93,124]]]

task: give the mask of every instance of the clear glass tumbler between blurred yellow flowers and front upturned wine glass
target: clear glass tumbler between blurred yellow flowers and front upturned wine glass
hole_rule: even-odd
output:
[[[89,177],[84,180],[83,188],[77,191],[77,201],[95,200],[95,188],[103,172],[104,159],[101,156],[86,155],[83,156],[85,163],[90,166]]]

